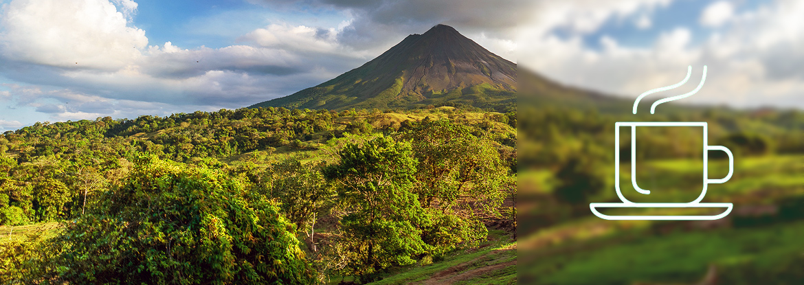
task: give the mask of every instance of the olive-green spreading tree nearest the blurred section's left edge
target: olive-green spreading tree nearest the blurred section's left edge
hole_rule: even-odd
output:
[[[494,142],[449,120],[409,125],[401,137],[419,161],[413,189],[433,222],[422,225],[425,241],[443,252],[485,239],[482,219],[498,215],[515,188]]]

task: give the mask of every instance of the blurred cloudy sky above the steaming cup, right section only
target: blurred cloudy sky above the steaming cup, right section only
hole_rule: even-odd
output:
[[[642,102],[804,108],[804,1],[565,0],[523,17],[519,68]]]

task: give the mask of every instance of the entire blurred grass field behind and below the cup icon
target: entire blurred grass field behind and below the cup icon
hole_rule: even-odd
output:
[[[709,167],[712,177],[724,176],[715,169],[728,169],[725,164],[726,161],[712,162]],[[630,171],[630,166],[622,167]],[[664,187],[663,191],[650,193],[652,199],[678,198],[687,189],[695,189],[697,195],[702,186],[700,167],[695,168],[688,161],[651,161],[640,169],[663,173],[645,182],[645,185],[653,183],[653,187]],[[613,172],[613,167],[610,170]],[[534,232],[519,238],[519,249],[524,253],[519,260],[523,264],[519,281],[525,284],[715,284],[712,280],[719,279],[747,284],[773,280],[774,284],[787,284],[777,282],[784,279],[780,276],[789,277],[784,280],[801,281],[797,272],[804,275],[801,269],[804,268],[802,170],[804,164],[798,155],[740,157],[731,180],[722,185],[709,185],[704,198],[704,202],[734,203],[732,214],[717,221],[606,221],[581,213],[537,226]],[[699,176],[695,180],[679,178],[695,173]],[[621,185],[626,185],[623,191],[634,191],[629,174],[623,176]],[[544,171],[522,173],[520,177],[523,182],[542,183],[531,187],[537,189],[535,192],[526,193],[535,197],[535,205],[523,203],[521,211],[527,209],[530,212],[526,215],[535,214],[534,217],[562,214],[550,212],[556,208],[546,202],[539,204],[539,201],[548,201],[553,187]],[[613,188],[605,189],[590,200],[619,201]],[[683,209],[642,211],[642,214],[678,214]]]

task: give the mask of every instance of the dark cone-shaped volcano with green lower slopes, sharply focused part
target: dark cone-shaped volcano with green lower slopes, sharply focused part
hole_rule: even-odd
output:
[[[473,106],[502,111],[516,104],[516,63],[451,26],[408,35],[382,55],[312,88],[249,108],[418,108]]]

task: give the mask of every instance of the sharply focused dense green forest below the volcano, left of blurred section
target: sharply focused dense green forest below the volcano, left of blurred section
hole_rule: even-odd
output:
[[[369,282],[514,229],[515,128],[448,107],[243,108],[6,132],[0,225],[60,226],[0,243],[0,279]]]

